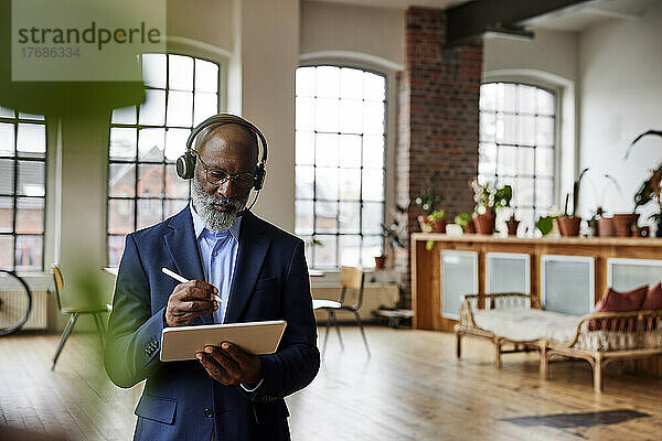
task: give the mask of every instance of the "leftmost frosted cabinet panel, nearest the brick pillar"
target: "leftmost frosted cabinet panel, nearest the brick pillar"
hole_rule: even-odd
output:
[[[478,252],[441,251],[441,315],[458,319],[460,298],[478,293]]]

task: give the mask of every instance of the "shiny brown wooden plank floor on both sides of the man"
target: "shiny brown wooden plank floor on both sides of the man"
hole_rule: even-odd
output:
[[[295,440],[661,437],[661,379],[608,372],[597,396],[585,363],[553,363],[545,381],[536,355],[504,355],[504,367],[495,369],[491,346],[480,341],[467,338],[457,362],[451,334],[369,327],[369,358],[355,329],[342,334],[344,351],[332,334],[316,380],[287,399]],[[57,338],[0,338],[0,424],[60,431],[71,440],[130,439],[140,387],[124,390],[105,379],[89,334],[74,335],[51,372]],[[630,418],[627,410],[639,413]],[[613,415],[626,417],[607,423]]]

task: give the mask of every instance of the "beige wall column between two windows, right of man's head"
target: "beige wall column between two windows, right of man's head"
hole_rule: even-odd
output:
[[[241,110],[269,144],[267,179],[254,211],[293,232],[299,0],[243,0],[241,8]]]

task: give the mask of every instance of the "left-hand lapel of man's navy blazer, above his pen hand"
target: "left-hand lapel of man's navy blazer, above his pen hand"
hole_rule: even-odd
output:
[[[174,216],[168,226],[172,228],[172,232],[164,236],[166,246],[175,267],[170,269],[189,280],[204,280],[190,205],[186,205],[184,209]],[[193,320],[191,324],[210,324],[213,322],[213,315],[207,314]]]

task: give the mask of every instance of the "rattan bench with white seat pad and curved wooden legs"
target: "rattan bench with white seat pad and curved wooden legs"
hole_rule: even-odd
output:
[[[602,389],[602,369],[608,363],[662,355],[662,310],[579,318],[541,310],[528,294],[470,294],[462,298],[459,319],[455,326],[458,358],[463,336],[491,341],[498,367],[501,354],[540,351],[545,379],[553,355],[581,358],[592,366],[596,391]]]

